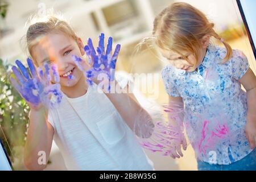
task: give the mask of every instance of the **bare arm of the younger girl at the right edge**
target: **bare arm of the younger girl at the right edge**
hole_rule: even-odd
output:
[[[246,137],[251,148],[256,147],[256,77],[249,68],[245,75],[238,80],[246,89],[247,95],[247,120],[246,120]]]

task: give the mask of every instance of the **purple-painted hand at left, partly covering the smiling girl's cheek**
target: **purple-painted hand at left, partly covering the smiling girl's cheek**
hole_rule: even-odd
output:
[[[60,103],[63,95],[60,91],[60,84],[58,83],[60,77],[55,64],[51,65],[51,70],[48,64],[44,64],[44,72],[41,68],[38,68],[38,71],[36,71],[32,60],[28,58],[27,63],[30,75],[27,68],[19,60],[16,60],[15,63],[19,69],[13,66],[12,69],[16,79],[11,77],[10,81],[20,95],[28,102],[28,105],[34,108],[41,106],[49,108]],[[50,71],[52,71],[55,84],[51,84]]]

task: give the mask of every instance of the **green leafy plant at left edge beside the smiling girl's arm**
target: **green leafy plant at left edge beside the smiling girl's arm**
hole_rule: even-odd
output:
[[[10,67],[0,59],[0,137],[17,169],[23,163],[30,107],[10,84]]]

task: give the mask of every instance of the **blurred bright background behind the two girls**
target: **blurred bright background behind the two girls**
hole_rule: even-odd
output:
[[[123,73],[156,73],[160,75],[166,61],[154,48],[135,47],[143,38],[150,37],[154,17],[175,0],[0,0],[0,137],[13,162],[14,169],[23,170],[22,151],[26,141],[29,107],[10,86],[10,65],[16,59],[27,58],[22,37],[28,28],[32,14],[44,15],[45,10],[60,11],[84,44],[88,38],[94,43],[100,32],[112,36],[115,44],[121,44],[117,71]],[[179,1],[180,2],[180,1]],[[243,26],[240,11],[235,0],[185,0],[203,11],[216,24],[215,30],[228,41],[233,49],[241,49],[249,59],[250,67],[256,73],[253,51]],[[215,42],[216,40],[212,40]],[[215,42],[219,44],[219,42]],[[222,46],[222,45],[221,45]],[[167,103],[168,95],[159,76],[158,97],[154,102]],[[140,85],[135,85],[141,90]],[[152,98],[149,93],[139,97]],[[1,132],[1,130],[3,132]],[[194,151],[189,145],[181,159],[172,159],[158,153],[146,151],[154,162],[156,170],[196,170]],[[46,170],[65,170],[63,159],[53,143],[50,162]]]

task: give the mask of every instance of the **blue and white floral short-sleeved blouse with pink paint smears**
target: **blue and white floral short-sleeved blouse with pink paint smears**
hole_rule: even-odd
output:
[[[172,65],[162,70],[166,92],[183,98],[185,129],[197,160],[212,164],[230,164],[252,151],[245,135],[246,93],[238,82],[249,63],[242,51],[233,50],[226,63],[225,55],[225,48],[210,44],[196,71]]]

